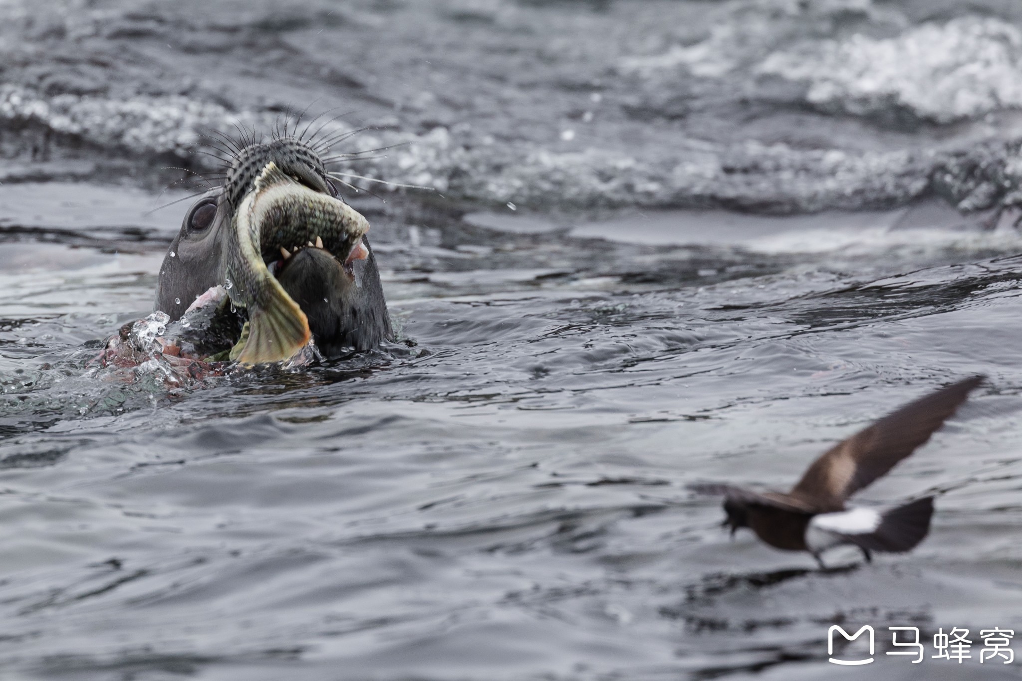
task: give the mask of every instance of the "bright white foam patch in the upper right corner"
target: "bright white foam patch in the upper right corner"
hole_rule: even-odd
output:
[[[809,84],[809,102],[854,114],[891,106],[937,123],[1022,107],[1022,32],[997,18],[924,23],[771,54],[757,68]]]

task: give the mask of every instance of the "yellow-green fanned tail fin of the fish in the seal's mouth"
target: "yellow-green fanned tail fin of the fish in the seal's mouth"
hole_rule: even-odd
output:
[[[236,357],[243,364],[288,359],[312,337],[309,319],[301,307],[276,280],[271,278],[267,283],[269,302],[248,308],[248,338]]]

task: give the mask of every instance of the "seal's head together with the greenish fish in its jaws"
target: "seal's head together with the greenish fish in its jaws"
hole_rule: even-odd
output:
[[[234,149],[223,185],[186,213],[155,309],[173,323],[221,286],[219,317],[239,330],[227,345],[197,338],[199,358],[282,361],[310,338],[329,358],[392,340],[369,224],[340,198],[322,151],[286,136]]]

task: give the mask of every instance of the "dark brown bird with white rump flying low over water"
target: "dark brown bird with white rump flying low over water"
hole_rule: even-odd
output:
[[[790,492],[726,484],[690,489],[725,497],[724,527],[732,536],[750,528],[771,546],[808,551],[822,569],[821,553],[842,544],[858,546],[868,563],[871,551],[912,550],[930,531],[932,496],[887,510],[849,508],[845,501],[929,440],[982,382],[982,376],[959,381],[880,419],[815,460]]]

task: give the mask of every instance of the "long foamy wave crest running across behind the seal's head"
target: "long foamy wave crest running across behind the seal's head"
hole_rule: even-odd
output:
[[[294,123],[293,116],[232,112],[183,96],[47,98],[10,85],[0,86],[0,120],[36,124],[101,149],[138,155],[143,162],[171,154],[206,169],[218,168],[215,155],[223,153],[203,138],[210,130],[237,135],[238,128],[271,131]],[[321,137],[344,132],[351,132],[344,124],[328,121]],[[925,153],[690,140],[657,153],[630,154],[599,147],[558,151],[526,142],[498,144],[468,126],[456,126],[418,135],[370,130],[340,151],[392,145],[399,146],[337,169],[368,178],[347,180],[375,193],[406,191],[380,182],[410,184],[460,201],[510,201],[540,209],[675,206],[793,213],[887,207],[929,191],[963,210],[1022,204],[1017,191],[1022,163],[1015,160],[1019,141]]]

